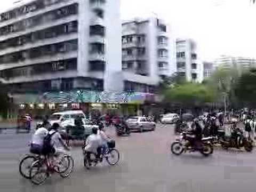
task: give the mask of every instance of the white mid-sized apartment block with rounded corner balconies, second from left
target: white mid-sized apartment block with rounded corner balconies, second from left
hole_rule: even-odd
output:
[[[157,18],[134,19],[122,24],[122,69],[137,75],[137,82],[157,84],[172,73],[170,28]]]

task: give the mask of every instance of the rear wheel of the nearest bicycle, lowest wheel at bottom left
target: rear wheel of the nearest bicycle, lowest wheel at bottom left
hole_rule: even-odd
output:
[[[41,160],[35,161],[29,172],[30,180],[35,185],[41,185],[48,177],[47,165]]]

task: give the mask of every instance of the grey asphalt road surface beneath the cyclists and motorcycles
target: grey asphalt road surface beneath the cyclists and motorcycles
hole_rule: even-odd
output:
[[[81,148],[73,147],[75,169],[70,178],[52,175],[44,185],[35,186],[18,172],[30,135],[0,134],[0,191],[255,191],[255,152],[217,149],[209,158],[198,153],[177,157],[170,153],[174,138],[170,125],[116,138],[119,164],[110,167],[103,163],[89,171],[83,167]]]

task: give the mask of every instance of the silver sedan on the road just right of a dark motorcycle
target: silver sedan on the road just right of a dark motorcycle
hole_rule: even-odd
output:
[[[155,131],[156,124],[153,121],[150,121],[146,117],[129,117],[126,120],[127,125],[129,126],[130,130],[136,130],[143,132],[144,130],[151,130]]]

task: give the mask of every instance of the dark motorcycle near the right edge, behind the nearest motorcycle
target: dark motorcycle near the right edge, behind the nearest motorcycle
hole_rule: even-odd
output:
[[[247,152],[251,152],[253,150],[253,141],[250,137],[246,138],[244,135],[244,131],[236,128],[231,132],[230,137],[225,137],[225,140],[219,140],[222,148],[244,148]]]

